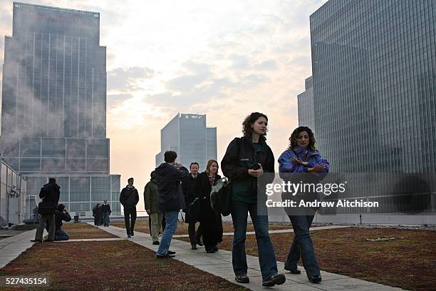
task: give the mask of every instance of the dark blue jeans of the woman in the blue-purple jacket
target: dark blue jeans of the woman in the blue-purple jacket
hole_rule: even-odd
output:
[[[294,241],[292,242],[289,254],[285,262],[287,269],[296,269],[296,263],[303,261],[303,267],[307,276],[321,275],[318,261],[316,260],[313,242],[309,235],[309,228],[313,221],[313,215],[289,215],[294,228]]]

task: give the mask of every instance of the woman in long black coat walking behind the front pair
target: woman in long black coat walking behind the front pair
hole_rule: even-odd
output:
[[[222,242],[221,215],[214,212],[210,206],[210,190],[212,185],[221,179],[218,173],[218,162],[209,160],[206,171],[199,174],[194,186],[194,193],[200,199],[199,222],[202,225],[203,244],[206,252],[218,250],[217,243]]]

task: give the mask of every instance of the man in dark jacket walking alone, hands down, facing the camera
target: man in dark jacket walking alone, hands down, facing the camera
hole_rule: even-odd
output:
[[[124,222],[125,230],[127,231],[128,238],[134,235],[133,228],[135,228],[136,221],[136,205],[139,201],[139,194],[135,187],[133,187],[133,178],[128,179],[128,185],[121,190],[120,203],[124,208]],[[131,218],[131,222],[129,222]]]

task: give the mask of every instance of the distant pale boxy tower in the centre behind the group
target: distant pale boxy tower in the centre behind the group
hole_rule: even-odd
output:
[[[206,115],[180,114],[160,131],[160,153],[156,166],[164,161],[167,150],[175,150],[177,161],[189,168],[191,162],[206,169],[207,160],[217,160],[217,128],[206,127]]]

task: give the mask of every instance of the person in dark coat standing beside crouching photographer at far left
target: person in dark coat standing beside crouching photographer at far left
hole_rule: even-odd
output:
[[[38,229],[36,230],[35,239],[31,242],[42,242],[42,236],[44,227],[46,226],[46,220],[51,223],[51,227],[48,230],[48,238],[45,242],[53,242],[55,237],[55,210],[58,206],[61,187],[56,184],[56,179],[48,178],[48,183],[43,185],[39,192],[39,198],[42,198],[41,203],[38,205],[38,213],[41,215],[39,220]]]

